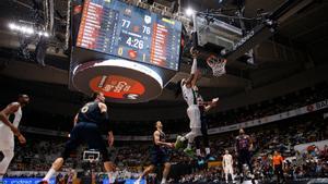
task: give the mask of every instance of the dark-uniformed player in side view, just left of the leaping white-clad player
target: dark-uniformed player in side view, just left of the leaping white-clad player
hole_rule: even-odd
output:
[[[150,172],[154,170],[159,164],[164,164],[163,177],[161,184],[166,183],[166,177],[168,175],[171,163],[168,157],[167,148],[174,148],[173,143],[165,142],[165,134],[163,132],[162,122],[156,122],[156,131],[153,134],[154,146],[151,150],[151,165],[148,167],[143,173],[139,176],[139,179],[134,182],[134,184],[139,184],[143,176],[147,176]]]

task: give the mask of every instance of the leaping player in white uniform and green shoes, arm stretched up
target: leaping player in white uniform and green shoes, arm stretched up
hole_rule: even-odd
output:
[[[199,52],[195,51],[191,48],[190,53],[194,58],[191,72],[187,79],[183,78],[178,83],[179,87],[177,88],[176,96],[183,93],[183,97],[188,105],[187,114],[190,120],[189,126],[191,131],[185,136],[177,136],[175,148],[177,149],[180,148],[183,146],[183,142],[188,140],[188,146],[184,151],[190,157],[192,157],[194,151],[191,149],[191,146],[195,137],[201,136],[201,121],[200,121],[200,110],[197,105],[197,96],[194,89],[196,86],[196,82],[200,78],[200,71],[197,70],[197,56]]]

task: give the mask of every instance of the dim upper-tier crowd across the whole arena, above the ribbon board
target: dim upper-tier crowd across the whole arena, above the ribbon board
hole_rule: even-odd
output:
[[[200,90],[201,93],[201,90]],[[314,102],[318,102],[327,99],[328,97],[328,84],[320,83],[314,87],[307,87],[297,91],[293,91],[277,98],[231,109],[226,111],[220,111],[207,115],[209,127],[218,127],[223,125],[231,125],[235,123],[246,122],[249,120],[256,120],[262,116],[272,115],[289,111],[292,109],[301,108]],[[184,106],[183,103],[181,106]],[[220,105],[218,106],[220,108]],[[30,126],[51,128],[56,131],[69,132],[73,126],[73,115],[59,115],[51,114],[44,111],[30,111],[28,108],[24,111],[24,119],[22,124]],[[46,123],[39,123],[46,122]],[[189,120],[187,115],[184,119],[177,120],[162,120],[165,124],[166,133],[185,132],[188,127]],[[121,135],[149,135],[152,134],[153,121],[113,121],[114,128]],[[147,126],[144,126],[147,124]],[[133,128],[129,128],[133,126]]]

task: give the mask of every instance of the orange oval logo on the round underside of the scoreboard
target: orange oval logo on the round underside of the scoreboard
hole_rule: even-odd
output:
[[[92,78],[89,85],[92,90],[116,99],[138,99],[145,91],[140,82],[120,75],[99,75]]]

